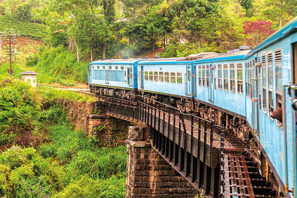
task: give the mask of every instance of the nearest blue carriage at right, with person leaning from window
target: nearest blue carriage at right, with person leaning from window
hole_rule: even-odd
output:
[[[251,50],[245,62],[246,118],[257,145],[260,172],[267,178],[273,172],[279,188],[294,197],[296,112],[288,88],[297,84],[296,27],[297,18]]]

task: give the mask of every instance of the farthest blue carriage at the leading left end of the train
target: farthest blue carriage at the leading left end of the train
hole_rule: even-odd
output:
[[[142,59],[96,60],[89,64],[88,85],[98,95],[135,98],[138,88],[137,63]]]

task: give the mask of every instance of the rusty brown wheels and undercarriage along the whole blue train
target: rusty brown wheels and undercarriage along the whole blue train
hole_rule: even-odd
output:
[[[119,97],[125,100],[136,100],[138,95],[151,98],[155,101],[162,102],[173,107],[178,108],[184,113],[191,113],[197,116],[203,117],[218,125],[224,125],[226,129],[232,130],[233,133],[241,139],[249,148],[250,151],[254,153],[255,161],[258,164],[258,170],[263,178],[266,178],[267,182],[276,190],[277,197],[284,197],[281,191],[280,183],[272,172],[272,164],[267,160],[268,156],[265,151],[261,148],[260,144],[257,142],[255,135],[252,133],[251,127],[247,124],[247,121],[236,117],[234,115],[228,114],[224,111],[219,110],[215,107],[210,107],[205,104],[199,103],[188,98],[178,98],[169,95],[149,93],[144,91],[134,91],[134,90],[123,90],[105,87],[95,87],[90,86],[92,93],[101,96],[111,96]]]

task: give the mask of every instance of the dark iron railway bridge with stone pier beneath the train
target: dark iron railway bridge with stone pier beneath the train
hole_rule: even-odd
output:
[[[276,197],[229,129],[145,96],[99,96],[98,106],[136,123],[126,140],[126,197]]]

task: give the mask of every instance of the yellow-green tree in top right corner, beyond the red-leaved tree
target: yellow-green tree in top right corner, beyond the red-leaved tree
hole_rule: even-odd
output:
[[[263,15],[272,21],[278,21],[281,28],[283,23],[297,15],[297,0],[266,0]]]

